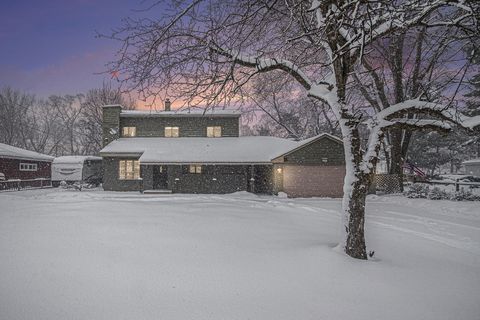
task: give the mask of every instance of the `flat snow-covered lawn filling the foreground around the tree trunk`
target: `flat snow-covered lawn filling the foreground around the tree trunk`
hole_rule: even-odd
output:
[[[480,319],[480,203],[55,189],[0,194],[0,319]]]

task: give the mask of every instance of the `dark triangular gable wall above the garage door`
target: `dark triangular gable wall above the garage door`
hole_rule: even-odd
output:
[[[327,158],[323,162],[322,158]],[[327,165],[345,164],[343,145],[332,138],[323,137],[284,157],[285,164]]]

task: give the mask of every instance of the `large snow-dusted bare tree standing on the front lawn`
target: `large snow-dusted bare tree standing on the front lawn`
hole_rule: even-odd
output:
[[[111,69],[145,95],[176,95],[207,105],[238,99],[257,74],[289,74],[339,122],[347,172],[343,248],[367,259],[365,198],[384,132],[398,126],[449,130],[447,122],[472,128],[480,121],[420,97],[366,112],[349,98],[351,75],[370,46],[394,32],[421,25],[458,29],[467,39],[478,32],[478,6],[460,0],[174,1],[157,21],[127,20],[112,35],[123,48]],[[365,124],[369,141],[363,149]]]

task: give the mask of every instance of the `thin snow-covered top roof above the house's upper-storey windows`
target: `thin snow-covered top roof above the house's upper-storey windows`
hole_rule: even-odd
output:
[[[236,110],[221,109],[194,109],[194,110],[123,110],[121,117],[240,117],[240,112]]]

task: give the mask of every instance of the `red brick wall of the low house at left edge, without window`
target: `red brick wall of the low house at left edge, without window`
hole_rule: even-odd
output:
[[[37,171],[20,171],[20,163],[36,163]],[[52,168],[50,162],[45,161],[31,161],[31,160],[19,160],[0,158],[0,172],[5,174],[5,178],[8,179],[35,179],[46,178],[50,179],[52,175]]]

